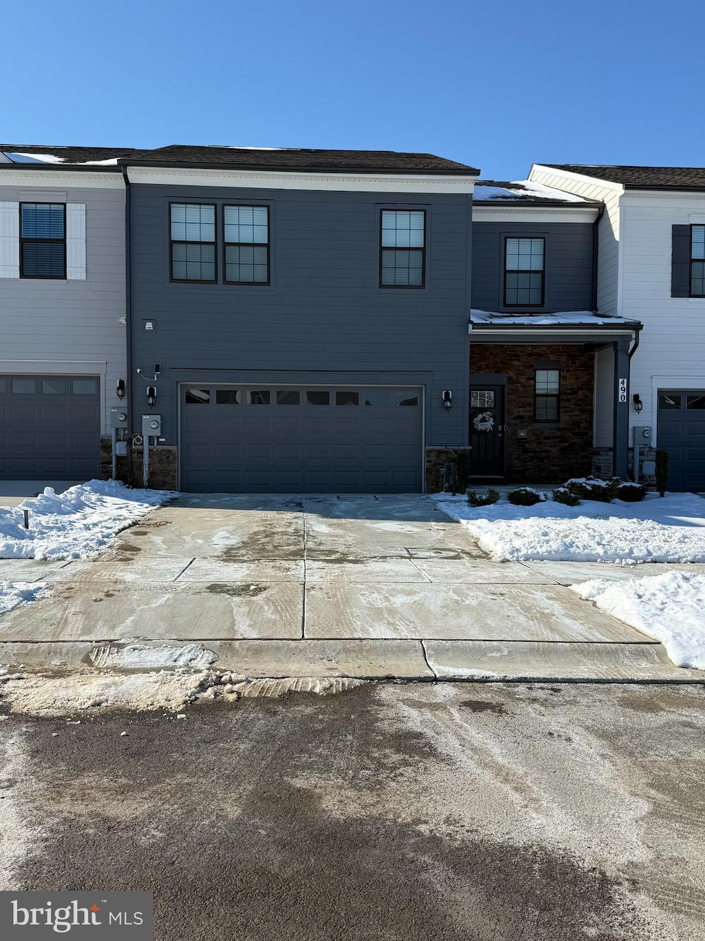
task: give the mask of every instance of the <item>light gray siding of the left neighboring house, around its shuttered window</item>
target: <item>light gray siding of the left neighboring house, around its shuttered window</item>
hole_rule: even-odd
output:
[[[104,430],[118,404],[118,378],[125,378],[124,190],[46,183],[34,189],[39,201],[86,205],[86,280],[0,278],[0,374],[99,375]],[[27,183],[0,186],[3,201],[32,195]]]

